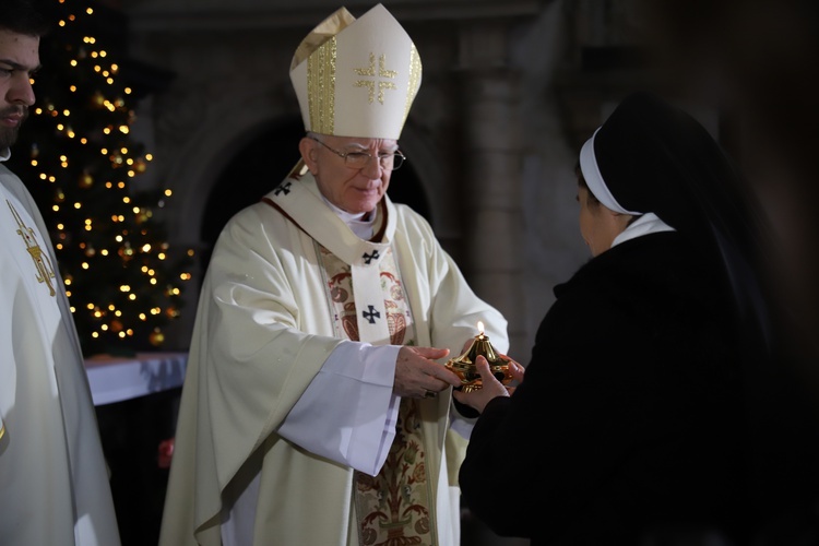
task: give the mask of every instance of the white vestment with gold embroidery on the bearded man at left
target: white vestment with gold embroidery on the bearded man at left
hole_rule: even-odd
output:
[[[117,546],[68,299],[39,211],[0,165],[0,544]]]

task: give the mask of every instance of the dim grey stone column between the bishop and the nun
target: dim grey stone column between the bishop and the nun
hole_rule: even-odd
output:
[[[468,281],[509,321],[510,356],[525,364],[519,74],[508,66],[507,22],[461,28],[464,242]]]

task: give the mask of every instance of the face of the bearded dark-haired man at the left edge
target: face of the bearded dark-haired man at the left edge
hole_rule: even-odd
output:
[[[11,146],[34,104],[32,74],[39,68],[39,37],[0,29],[0,151]]]

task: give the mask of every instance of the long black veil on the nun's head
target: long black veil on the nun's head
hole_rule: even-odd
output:
[[[653,212],[721,268],[750,354],[774,344],[761,207],[708,130],[681,108],[640,92],[626,97],[594,135],[594,157],[626,210]]]

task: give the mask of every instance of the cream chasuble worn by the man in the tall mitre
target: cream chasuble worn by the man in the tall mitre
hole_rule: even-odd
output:
[[[458,352],[478,321],[503,352],[507,323],[475,296],[420,215],[384,197],[372,228],[370,240],[358,237],[307,173],[285,179],[222,230],[191,339],[162,546],[223,544],[232,501],[257,477],[252,539],[242,545],[460,544],[465,441],[451,425],[470,423],[451,412],[448,391],[415,400],[417,407],[396,418],[392,384],[366,372],[379,366],[366,355],[407,343]],[[379,399],[316,400],[300,415],[325,418],[305,422],[304,446],[280,435],[310,403],[311,389],[340,371],[325,369],[340,352],[357,359],[351,375],[339,373],[347,384],[367,377],[351,390]],[[383,366],[392,368],[394,357]],[[327,430],[335,419],[342,428]],[[321,430],[332,438],[311,436]],[[410,438],[416,430],[423,442]],[[397,436],[407,441],[395,443]],[[310,442],[327,452],[310,451]],[[412,472],[358,479],[358,466],[347,463],[361,442],[372,449],[354,454],[361,471],[379,473],[389,459],[400,470],[408,461]],[[401,497],[402,484],[412,485],[410,498]]]

